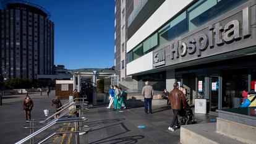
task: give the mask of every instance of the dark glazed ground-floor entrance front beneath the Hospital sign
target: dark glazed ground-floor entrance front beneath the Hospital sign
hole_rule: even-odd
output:
[[[208,108],[239,108],[243,91],[255,91],[256,66],[252,56],[226,59],[175,70],[176,82],[186,88],[189,104],[195,98],[208,100]]]

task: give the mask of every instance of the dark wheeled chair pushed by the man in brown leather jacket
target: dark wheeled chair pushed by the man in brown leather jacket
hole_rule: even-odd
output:
[[[188,104],[188,100],[186,102],[186,109],[184,109],[180,114],[179,114],[179,124],[180,125],[187,125],[187,124],[195,124],[197,121],[195,120],[195,116],[193,114],[192,109],[190,108]]]

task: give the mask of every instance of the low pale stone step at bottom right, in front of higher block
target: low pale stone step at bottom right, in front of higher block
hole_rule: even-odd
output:
[[[216,122],[207,124],[192,124],[181,126],[181,139],[182,144],[241,144],[233,138],[226,137],[216,133]]]

